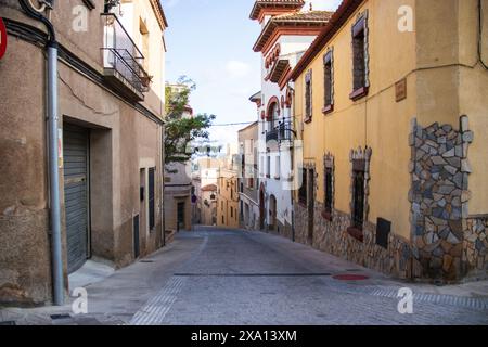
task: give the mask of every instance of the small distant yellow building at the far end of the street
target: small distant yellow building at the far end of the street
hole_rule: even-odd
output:
[[[239,229],[237,172],[221,169],[217,187],[217,226]]]

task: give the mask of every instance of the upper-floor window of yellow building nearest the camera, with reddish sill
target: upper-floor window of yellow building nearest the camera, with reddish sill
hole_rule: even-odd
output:
[[[352,26],[352,100],[368,94],[368,13],[362,14]]]

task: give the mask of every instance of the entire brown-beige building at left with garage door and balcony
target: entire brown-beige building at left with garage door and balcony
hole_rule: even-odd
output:
[[[124,267],[164,243],[167,22],[157,0],[104,10],[103,0],[55,1],[43,13],[59,42],[65,280],[90,257]],[[1,0],[0,16],[9,34],[0,62],[0,303],[43,304],[53,293],[47,31],[17,0]]]

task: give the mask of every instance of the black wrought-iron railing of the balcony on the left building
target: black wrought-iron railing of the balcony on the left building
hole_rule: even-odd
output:
[[[139,92],[146,92],[150,76],[144,70],[144,55],[114,13],[102,13],[105,21],[103,66],[117,72]]]

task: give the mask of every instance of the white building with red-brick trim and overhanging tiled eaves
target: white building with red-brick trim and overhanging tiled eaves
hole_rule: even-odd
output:
[[[326,11],[308,11],[305,1],[257,0],[251,18],[261,25],[254,51],[261,55],[258,103],[260,229],[292,237],[292,87],[283,80],[326,24]]]

